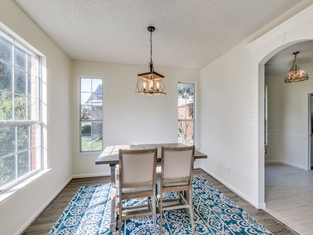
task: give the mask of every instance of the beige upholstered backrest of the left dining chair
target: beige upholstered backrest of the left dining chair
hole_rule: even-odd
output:
[[[151,186],[156,178],[157,148],[119,149],[119,180],[123,188]]]

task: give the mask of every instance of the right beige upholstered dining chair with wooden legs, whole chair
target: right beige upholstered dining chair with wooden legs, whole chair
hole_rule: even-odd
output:
[[[161,173],[156,175],[156,184],[160,189],[157,201],[160,210],[160,234],[162,234],[162,212],[182,209],[189,211],[193,234],[196,233],[192,208],[192,175],[195,158],[195,146],[162,147]],[[163,200],[164,192],[176,192],[175,199]]]

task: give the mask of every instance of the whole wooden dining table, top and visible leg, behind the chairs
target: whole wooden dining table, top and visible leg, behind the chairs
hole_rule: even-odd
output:
[[[131,145],[112,145],[107,146],[95,164],[110,164],[111,168],[111,221],[110,232],[116,231],[116,165],[118,165],[118,151],[119,149],[151,149],[157,148],[157,161],[161,161],[161,147],[183,147],[186,146],[182,143],[153,143],[153,144],[131,144]],[[195,150],[195,160],[207,158],[207,155]]]

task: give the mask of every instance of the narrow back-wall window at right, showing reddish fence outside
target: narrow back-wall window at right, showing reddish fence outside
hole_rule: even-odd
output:
[[[178,84],[178,142],[195,144],[195,84]]]

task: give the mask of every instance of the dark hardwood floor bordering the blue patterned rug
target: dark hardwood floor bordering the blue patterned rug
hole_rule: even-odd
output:
[[[246,203],[239,196],[225,188],[222,184],[212,178],[201,169],[195,169],[194,175],[201,175],[207,181],[212,183],[216,188],[222,191],[238,206],[249,213],[263,226],[268,228],[274,235],[296,235],[288,227],[270,216],[267,212],[256,210],[250,204]],[[67,204],[74,196],[80,186],[97,185],[110,183],[110,177],[96,177],[85,179],[73,179],[66,188],[55,198],[55,200],[43,211],[43,213],[34,221],[34,223],[23,233],[23,235],[46,235],[53,227],[61,213],[67,207]]]

